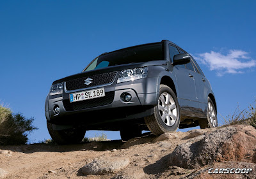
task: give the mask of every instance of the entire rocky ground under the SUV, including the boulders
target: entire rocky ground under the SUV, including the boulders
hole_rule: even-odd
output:
[[[0,149],[0,178],[256,178],[256,129],[249,125]],[[210,168],[252,171],[209,174]]]

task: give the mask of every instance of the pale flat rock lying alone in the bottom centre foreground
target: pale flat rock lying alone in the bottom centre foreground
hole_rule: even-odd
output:
[[[106,159],[94,159],[82,168],[84,175],[104,175],[106,173],[116,173],[129,165],[129,159],[116,157]]]

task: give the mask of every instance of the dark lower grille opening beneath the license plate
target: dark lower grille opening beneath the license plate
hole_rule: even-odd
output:
[[[63,100],[63,105],[66,111],[83,110],[86,108],[93,108],[97,106],[104,106],[111,104],[114,100],[115,91],[105,92],[104,97],[97,97],[94,99],[87,99],[84,101],[77,101],[70,103],[69,99]]]

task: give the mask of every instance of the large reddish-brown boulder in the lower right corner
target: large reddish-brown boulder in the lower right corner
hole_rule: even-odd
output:
[[[252,126],[223,127],[205,134],[200,141],[176,147],[170,155],[170,165],[196,169],[214,161],[256,163],[255,146],[256,129]]]

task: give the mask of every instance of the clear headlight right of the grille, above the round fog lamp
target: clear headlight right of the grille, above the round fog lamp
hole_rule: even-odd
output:
[[[129,82],[133,80],[138,80],[141,78],[147,78],[148,68],[133,68],[133,69],[124,69],[121,71],[117,83]]]

